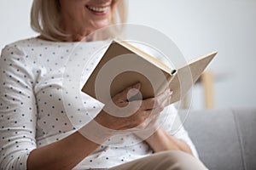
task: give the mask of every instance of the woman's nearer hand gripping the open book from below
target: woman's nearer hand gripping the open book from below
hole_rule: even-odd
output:
[[[168,105],[172,93],[170,89],[166,89],[155,98],[129,101],[139,93],[140,88],[140,83],[137,83],[113,96],[112,101],[96,116],[95,121],[113,130],[147,127]]]

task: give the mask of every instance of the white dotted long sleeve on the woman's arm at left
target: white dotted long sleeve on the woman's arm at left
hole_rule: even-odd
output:
[[[15,45],[3,48],[0,59],[0,169],[26,169],[36,148],[35,78],[26,55]]]

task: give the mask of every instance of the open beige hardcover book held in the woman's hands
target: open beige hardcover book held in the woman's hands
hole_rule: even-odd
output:
[[[217,52],[199,57],[177,70],[125,41],[113,41],[82,91],[106,104],[123,89],[140,82],[140,96],[148,99],[170,88],[171,103],[188,93]]]

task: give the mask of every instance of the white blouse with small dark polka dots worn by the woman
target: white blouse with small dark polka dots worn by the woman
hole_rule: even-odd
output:
[[[106,48],[102,44],[49,42],[32,37],[3,48],[0,59],[0,169],[26,169],[26,160],[32,150],[76,132],[101,111],[102,104],[80,89]],[[178,119],[175,107],[170,105],[161,116],[165,120],[161,126],[186,141],[197,156],[183,127],[173,134],[173,122]],[[152,153],[148,144],[137,136],[119,134],[73,169],[113,167]]]

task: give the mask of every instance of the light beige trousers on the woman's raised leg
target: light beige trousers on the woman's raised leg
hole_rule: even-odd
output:
[[[182,151],[163,151],[135,161],[129,161],[108,170],[206,170],[194,156]]]

